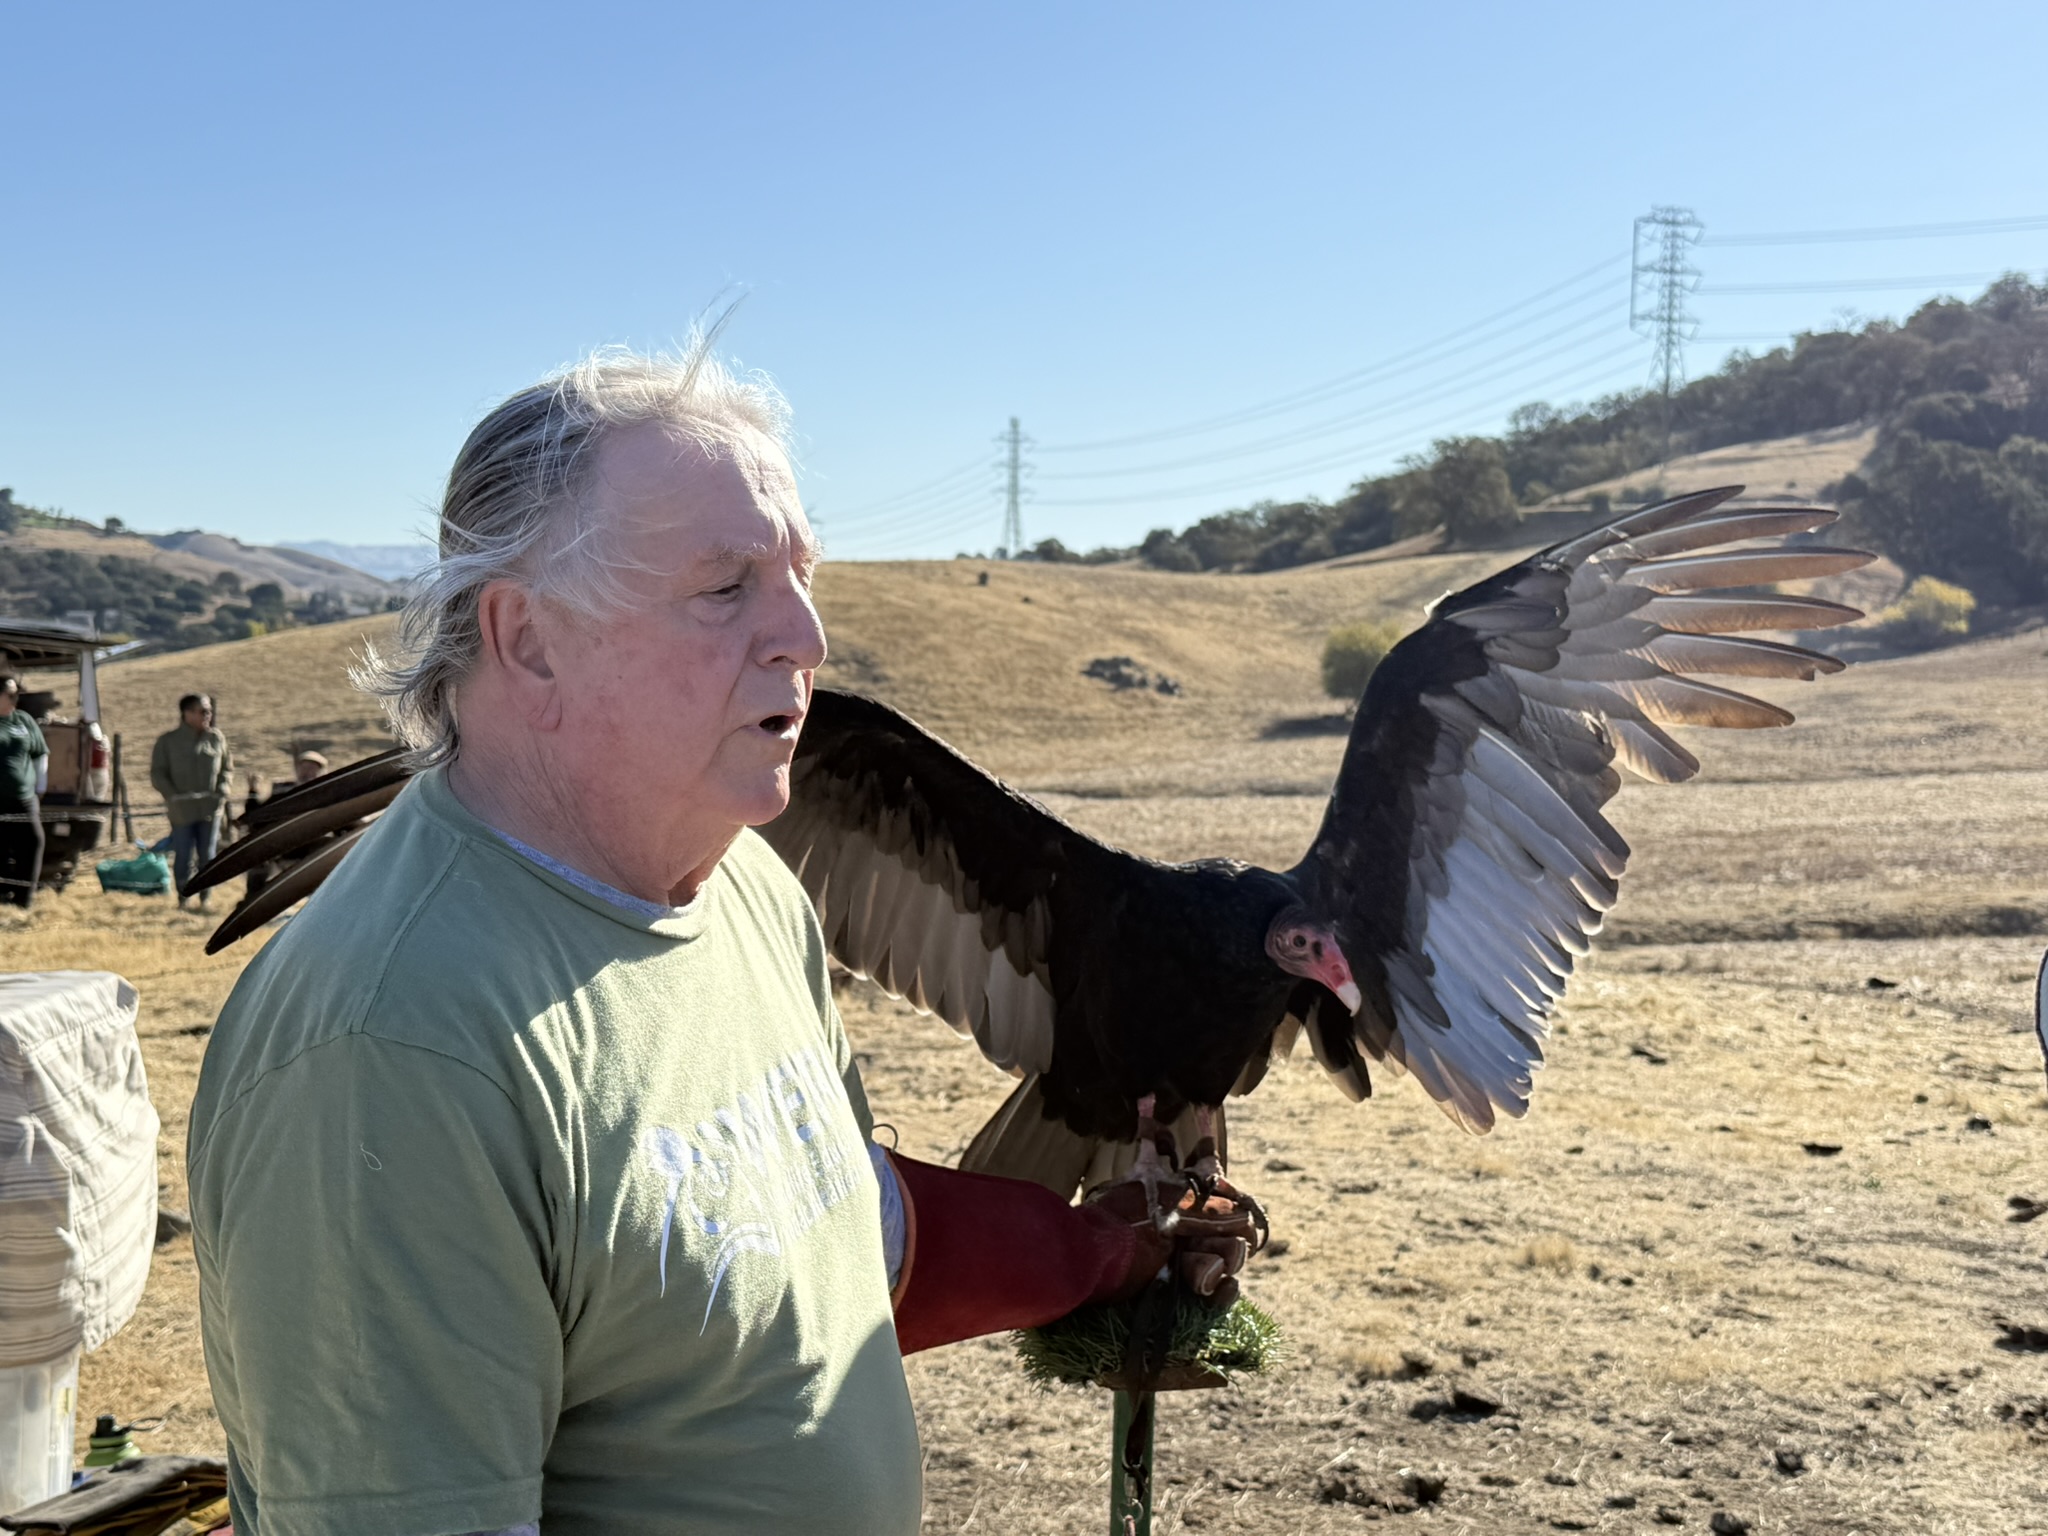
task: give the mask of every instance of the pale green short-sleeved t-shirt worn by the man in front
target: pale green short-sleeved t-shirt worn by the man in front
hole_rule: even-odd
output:
[[[207,1044],[236,1530],[915,1532],[868,1130],[764,842],[637,918],[424,774]]]

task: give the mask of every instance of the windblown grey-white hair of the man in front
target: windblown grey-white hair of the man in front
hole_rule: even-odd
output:
[[[737,373],[692,334],[680,356],[625,348],[594,352],[477,422],[449,471],[440,502],[440,559],[418,578],[399,621],[403,657],[371,649],[356,686],[383,698],[420,766],[461,743],[455,694],[477,664],[477,598],[492,582],[600,618],[625,600],[610,528],[586,496],[598,444],[618,428],[662,422],[705,449],[752,432],[788,449],[788,401],[760,373]]]

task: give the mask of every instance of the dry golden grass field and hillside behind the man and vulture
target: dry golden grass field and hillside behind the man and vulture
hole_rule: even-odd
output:
[[[1341,752],[1315,686],[1323,631],[1413,616],[1499,559],[1255,578],[827,565],[825,680],[909,709],[1102,836],[1290,862]],[[117,664],[109,715],[145,743],[199,686],[262,772],[293,739],[369,748],[350,639]],[[1112,655],[1180,694],[1081,676]],[[1782,696],[1794,729],[1716,733],[1698,782],[1616,803],[1634,872],[1528,1120],[1473,1139],[1384,1075],[1350,1106],[1309,1061],[1233,1106],[1233,1171],[1280,1239],[1247,1288],[1290,1358],[1163,1403],[1161,1532],[2048,1532],[2048,1354],[2001,1329],[2048,1329],[2048,1221],[2007,1208],[2048,1200],[2028,1026],[2048,635]],[[76,885],[0,920],[8,967],[141,987],[170,1204],[205,1030],[248,958],[207,961],[201,936],[168,901]],[[956,1153],[1006,1079],[872,989],[844,1006],[881,1118],[913,1153]],[[999,1339],[909,1374],[928,1530],[1100,1528],[1100,1393],[1026,1386]],[[86,1362],[84,1409],[162,1413],[160,1448],[219,1444],[186,1241]]]

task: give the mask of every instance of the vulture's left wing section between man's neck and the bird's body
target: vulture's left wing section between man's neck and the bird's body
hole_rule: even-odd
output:
[[[1053,1065],[1051,895],[1083,848],[1034,801],[872,698],[819,688],[788,809],[762,836],[848,971],[975,1036],[1014,1073]]]

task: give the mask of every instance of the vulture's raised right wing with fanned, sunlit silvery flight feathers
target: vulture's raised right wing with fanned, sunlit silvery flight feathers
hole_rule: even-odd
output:
[[[1702,674],[1841,670],[1739,631],[1821,629],[1853,608],[1731,590],[1870,555],[1786,547],[1835,514],[1722,508],[1737,492],[1642,508],[1446,596],[1374,672],[1296,870],[1364,989],[1356,1018],[1325,997],[1309,1020],[1339,1083],[1356,1092],[1362,1049],[1413,1071],[1466,1128],[1522,1114],[1550,1012],[1628,862],[1599,809],[1618,768],[1692,778],[1700,764],[1667,725],[1792,721]]]

